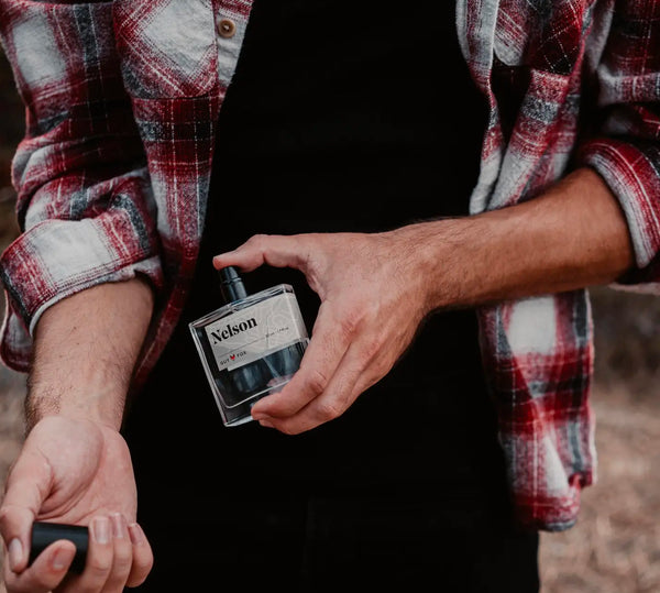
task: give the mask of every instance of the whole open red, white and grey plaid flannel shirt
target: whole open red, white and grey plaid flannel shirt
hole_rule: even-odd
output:
[[[153,284],[156,312],[135,388],[153,367],[194,274],[218,112],[251,1],[0,0],[26,107],[12,169],[22,233],[0,262],[11,367],[29,370],[47,307],[136,275]],[[458,0],[457,15],[491,111],[471,212],[594,167],[632,238],[637,268],[624,282],[658,290],[660,2]],[[479,318],[518,517],[565,529],[595,479],[588,294],[481,307]]]

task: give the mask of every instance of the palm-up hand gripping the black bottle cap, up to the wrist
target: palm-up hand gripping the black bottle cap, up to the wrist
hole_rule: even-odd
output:
[[[87,419],[44,417],[9,473],[0,507],[8,593],[119,593],[136,586],[153,554],[135,514],[131,457],[119,432]],[[75,547],[66,540],[48,546],[28,567],[35,520],[89,526],[81,574],[67,573]]]

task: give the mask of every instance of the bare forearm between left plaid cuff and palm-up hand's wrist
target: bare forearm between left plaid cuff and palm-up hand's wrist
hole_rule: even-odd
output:
[[[101,284],[48,308],[35,330],[28,428],[57,414],[119,429],[152,312],[141,279]]]

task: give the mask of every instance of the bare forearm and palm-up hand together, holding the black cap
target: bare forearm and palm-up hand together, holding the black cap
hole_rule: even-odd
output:
[[[114,593],[146,578],[153,554],[135,523],[135,477],[119,430],[152,311],[151,287],[133,278],[76,293],[38,319],[30,432],[0,507],[9,593]],[[67,572],[75,549],[66,540],[28,567],[35,520],[89,526],[82,574]]]

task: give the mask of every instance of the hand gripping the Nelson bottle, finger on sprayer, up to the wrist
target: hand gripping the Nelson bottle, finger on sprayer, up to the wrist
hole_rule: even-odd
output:
[[[341,416],[392,369],[427,314],[409,229],[254,235],[213,259],[217,268],[297,268],[321,299],[299,371],[254,405],[254,419],[286,433],[309,430]]]

